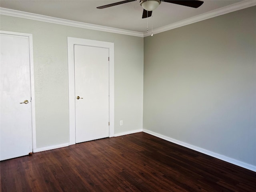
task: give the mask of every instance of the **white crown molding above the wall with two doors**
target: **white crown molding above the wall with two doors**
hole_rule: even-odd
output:
[[[37,21],[43,21],[43,22],[49,22],[49,23],[54,23],[54,24],[61,24],[61,25],[72,26],[72,27],[79,27],[79,28],[98,30],[98,31],[110,32],[110,33],[144,37],[142,32],[94,25],[94,24],[89,24],[89,23],[60,19],[60,18],[44,16],[44,15],[34,14],[34,13],[28,13],[28,12],[23,12],[23,11],[18,11],[18,10],[6,9],[6,8],[0,8],[0,14],[14,16],[14,17],[20,17],[20,18],[26,18],[26,19],[32,19],[32,20],[37,20]]]

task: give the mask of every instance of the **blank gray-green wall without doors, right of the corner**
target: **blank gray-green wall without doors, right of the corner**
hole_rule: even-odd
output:
[[[256,165],[255,13],[144,38],[144,129]]]

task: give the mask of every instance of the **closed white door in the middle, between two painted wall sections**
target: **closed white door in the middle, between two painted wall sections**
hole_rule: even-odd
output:
[[[109,136],[109,49],[74,45],[76,143]]]

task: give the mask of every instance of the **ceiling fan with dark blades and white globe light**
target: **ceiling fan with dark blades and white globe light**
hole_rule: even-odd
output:
[[[125,1],[120,1],[104,6],[97,7],[98,9],[104,9],[132,1],[138,1],[138,0],[125,0]],[[204,2],[199,1],[199,0],[140,0],[140,6],[143,7],[143,14],[142,18],[147,18],[152,16],[152,11],[160,5],[161,2],[166,2],[166,3],[174,3],[178,5],[183,5],[183,6],[188,6],[188,7],[193,7],[193,8],[198,8],[200,7]]]

